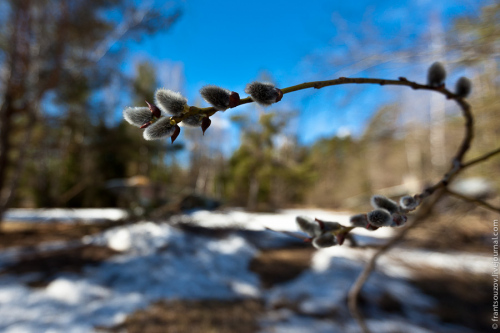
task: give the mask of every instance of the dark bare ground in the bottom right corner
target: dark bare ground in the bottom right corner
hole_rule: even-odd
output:
[[[415,269],[410,282],[435,299],[436,306],[432,312],[443,322],[465,326],[477,332],[491,330],[491,276],[420,268]]]

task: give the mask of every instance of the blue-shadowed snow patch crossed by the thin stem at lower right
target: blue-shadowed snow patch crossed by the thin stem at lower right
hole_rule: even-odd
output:
[[[302,316],[283,310],[268,312],[262,318],[262,332],[359,332],[359,328],[351,321],[311,321],[311,317],[325,318],[332,313],[337,318],[350,317],[346,309],[346,294],[363,264],[332,253],[332,249],[317,251],[310,270],[270,290],[266,295],[268,306],[273,308],[286,302],[294,303]],[[368,323],[373,332],[469,332],[461,327],[440,323],[438,318],[430,314],[433,299],[420,293],[404,279],[374,272],[363,290],[364,295],[370,295],[372,300],[389,294],[400,302],[406,317],[391,316],[371,308],[368,314],[375,319],[370,319]]]

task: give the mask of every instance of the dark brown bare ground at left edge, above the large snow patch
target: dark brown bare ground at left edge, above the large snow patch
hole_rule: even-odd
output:
[[[37,273],[27,284],[45,287],[61,272],[81,273],[85,266],[98,265],[116,253],[108,247],[90,245],[38,252],[21,256],[14,264],[0,270],[0,275]]]

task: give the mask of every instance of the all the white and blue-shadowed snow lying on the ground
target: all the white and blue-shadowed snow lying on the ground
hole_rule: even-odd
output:
[[[85,216],[87,212],[77,212]],[[51,215],[47,211],[48,215]],[[56,213],[54,213],[55,215]],[[177,216],[177,223],[189,221],[205,227],[239,227],[254,230],[260,244],[279,242],[284,236],[263,231],[297,231],[296,215],[309,215],[347,224],[348,214],[319,210],[285,210],[279,214],[194,212]],[[53,216],[53,215],[52,215]],[[366,232],[365,240],[388,237],[389,228]],[[369,236],[366,236],[369,235]],[[380,236],[382,235],[382,236]],[[379,239],[380,240],[380,239]],[[120,251],[100,266],[83,274],[61,274],[46,288],[31,289],[23,277],[0,276],[0,331],[2,332],[89,332],[95,325],[113,325],[131,312],[158,299],[235,299],[261,298],[269,311],[260,319],[267,332],[356,332],[345,307],[349,287],[368,258],[370,249],[347,246],[317,251],[312,267],[295,280],[269,290],[260,287],[258,277],[249,271],[258,246],[245,233],[233,232],[214,238],[183,232],[175,226],[141,222],[86,236],[84,244],[105,245]],[[261,245],[259,245],[261,246]],[[1,263],[13,259],[0,252]],[[369,309],[370,327],[375,331],[468,332],[444,326],[429,314],[433,301],[405,281],[411,271],[406,263],[425,264],[453,270],[483,272],[491,258],[460,253],[430,253],[418,249],[394,249],[381,258],[379,271],[365,286],[366,295],[378,298],[389,293],[404,307],[405,317]],[[300,314],[287,309],[273,310],[290,301]],[[325,314],[338,313],[336,320]],[[377,318],[380,318],[377,319]]]

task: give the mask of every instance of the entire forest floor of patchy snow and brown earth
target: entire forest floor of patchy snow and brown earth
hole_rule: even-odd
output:
[[[297,231],[302,214],[347,224],[348,214],[228,209],[130,223],[78,213],[45,210],[42,223],[39,211],[11,213],[0,234],[0,331],[357,332],[347,291],[392,231],[318,251],[264,228]],[[360,302],[374,331],[490,329],[492,217],[463,220],[432,221],[380,260]]]

